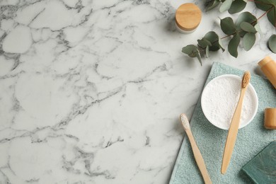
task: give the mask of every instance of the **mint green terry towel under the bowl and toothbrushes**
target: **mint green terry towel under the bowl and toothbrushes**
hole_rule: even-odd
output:
[[[243,76],[243,72],[240,69],[215,62],[206,84],[215,77],[223,74]],[[238,130],[236,145],[225,175],[220,173],[220,169],[227,131],[220,130],[208,122],[202,113],[200,100],[198,100],[197,106],[195,107],[195,112],[190,121],[192,134],[205,160],[212,183],[252,183],[248,176],[241,171],[241,168],[253,159],[265,146],[276,139],[276,131],[266,130],[263,126],[264,109],[268,107],[276,108],[276,90],[262,76],[251,75],[251,84],[258,94],[258,112],[249,125]],[[170,184],[186,183],[198,184],[204,182],[192,155],[190,143],[185,137],[178,153],[176,165],[173,168]]]

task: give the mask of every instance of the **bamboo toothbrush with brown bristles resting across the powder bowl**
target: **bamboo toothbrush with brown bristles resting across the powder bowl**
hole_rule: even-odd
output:
[[[244,97],[244,94],[246,93],[246,89],[248,87],[250,78],[251,78],[250,72],[249,71],[244,72],[243,79],[241,81],[241,95],[238,100],[235,113],[232,117],[231,125],[229,127],[229,132],[228,132],[225,147],[224,147],[224,156],[222,159],[222,170],[221,170],[222,174],[226,173],[226,170],[230,163],[232,151],[235,146],[236,136],[238,134],[238,126],[240,124],[240,119],[241,119],[241,110],[243,108],[243,97]]]

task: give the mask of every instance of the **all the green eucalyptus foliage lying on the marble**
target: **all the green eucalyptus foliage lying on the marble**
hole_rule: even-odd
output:
[[[222,0],[212,0],[207,4],[207,10],[214,8],[219,4]],[[228,44],[228,52],[233,57],[238,57],[238,45],[241,42],[241,38],[243,38],[243,48],[244,50],[248,51],[251,50],[255,43],[255,34],[260,33],[260,26],[258,21],[263,16],[268,16],[268,21],[272,23],[272,25],[276,28],[276,1],[272,1],[267,3],[268,0],[258,0],[253,1],[255,5],[260,8],[261,10],[265,11],[259,18],[255,18],[249,12],[241,13],[236,23],[234,23],[231,17],[226,17],[221,19],[220,26],[222,31],[226,34],[224,37],[219,38],[217,33],[214,31],[208,32],[201,40],[197,40],[197,45],[187,45],[183,47],[182,52],[188,54],[190,57],[197,57],[202,64],[201,58],[205,55],[206,57],[209,56],[209,51],[215,52],[217,50],[222,50],[224,52],[224,47],[222,45],[222,39],[229,38],[232,36],[231,40]],[[231,6],[227,6],[229,13],[237,13],[238,11],[243,10],[246,6],[246,2],[243,0],[225,0],[222,4],[222,7],[219,8],[219,11],[227,11],[223,6],[224,4],[231,3]],[[268,46],[272,52],[276,53],[276,35],[272,35],[269,39]]]

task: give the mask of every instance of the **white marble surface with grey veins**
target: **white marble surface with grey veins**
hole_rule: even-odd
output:
[[[181,52],[218,17],[176,31],[168,0],[0,2],[0,183],[168,183],[212,62],[260,73],[275,29],[249,52],[212,53],[203,67]],[[263,12],[248,3],[255,15]],[[235,16],[234,16],[235,17]],[[226,40],[224,40],[225,42]]]

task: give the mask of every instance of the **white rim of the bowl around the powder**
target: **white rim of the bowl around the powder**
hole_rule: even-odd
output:
[[[234,79],[240,79],[240,80],[242,80],[242,77],[241,77],[241,76],[238,76],[238,75],[234,75],[234,74],[223,74],[223,75],[217,76],[217,77],[215,77],[214,79],[212,79],[211,81],[209,81],[208,84],[205,85],[205,87],[204,87],[204,89],[203,89],[203,91],[202,91],[202,95],[201,95],[201,99],[200,99],[202,112],[203,112],[203,114],[205,115],[205,117],[207,118],[207,120],[208,120],[212,125],[214,125],[214,123],[213,123],[211,120],[209,120],[209,118],[206,116],[205,107],[202,105],[202,101],[203,101],[203,100],[202,100],[202,99],[203,99],[202,97],[204,97],[204,94],[206,93],[205,88],[206,88],[209,84],[211,85],[211,84],[212,84],[214,81],[216,81],[217,79],[221,79],[221,78],[225,78],[225,77],[226,77],[226,78],[229,77],[229,78],[234,78]],[[253,100],[255,100],[255,109],[254,109],[254,112],[253,112],[253,114],[252,114],[250,120],[248,120],[248,122],[244,123],[243,125],[240,125],[240,127],[238,127],[238,129],[241,129],[241,128],[243,128],[243,127],[246,127],[246,125],[248,125],[249,123],[251,123],[252,120],[254,119],[255,115],[257,114],[257,111],[258,111],[259,101],[258,101],[258,95],[257,95],[257,93],[256,93],[256,91],[255,91],[255,88],[253,87],[253,85],[252,85],[251,83],[249,83],[248,88],[251,88],[251,91],[252,91],[252,93],[253,93],[253,96],[254,96],[254,99],[253,99]],[[204,104],[204,103],[203,103],[203,104]],[[215,127],[218,127],[219,129],[222,129],[222,130],[229,130],[229,128],[225,128],[225,127],[222,127],[222,126],[218,126],[218,125],[214,125],[214,126],[215,126]]]

